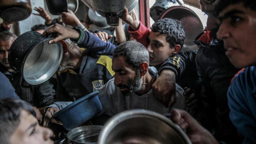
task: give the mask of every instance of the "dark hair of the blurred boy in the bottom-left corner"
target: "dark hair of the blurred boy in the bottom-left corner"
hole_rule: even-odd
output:
[[[0,99],[0,141],[9,143],[11,135],[20,123],[21,111],[33,113],[33,107],[21,99]]]

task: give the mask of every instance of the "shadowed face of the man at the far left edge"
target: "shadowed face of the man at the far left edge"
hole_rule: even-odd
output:
[[[0,40],[0,63],[4,65],[5,67],[9,68],[9,62],[8,62],[8,54],[11,47],[11,44],[13,44],[14,40],[6,40],[2,41]]]

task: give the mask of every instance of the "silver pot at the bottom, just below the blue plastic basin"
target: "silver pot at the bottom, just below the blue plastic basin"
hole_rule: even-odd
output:
[[[80,126],[70,130],[59,144],[97,144],[103,126]]]

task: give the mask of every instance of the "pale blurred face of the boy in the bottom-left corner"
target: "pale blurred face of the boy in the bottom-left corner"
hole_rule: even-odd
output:
[[[27,112],[21,111],[20,123],[11,135],[10,144],[53,144],[50,137],[53,131],[38,124],[37,119]]]

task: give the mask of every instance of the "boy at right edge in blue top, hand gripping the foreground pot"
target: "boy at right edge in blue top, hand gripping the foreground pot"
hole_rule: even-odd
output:
[[[234,77],[227,92],[230,119],[244,137],[243,143],[256,143],[256,2],[219,0],[215,13],[221,21],[217,38],[223,40],[226,56],[235,67],[246,67]],[[218,143],[186,112],[173,110],[172,116],[187,129],[192,143]]]

